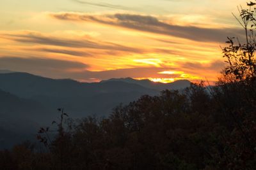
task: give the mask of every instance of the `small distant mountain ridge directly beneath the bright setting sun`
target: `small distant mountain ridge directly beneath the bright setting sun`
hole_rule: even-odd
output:
[[[148,89],[155,89],[155,90],[165,90],[165,89],[172,89],[172,90],[179,90],[189,87],[190,81],[188,80],[177,80],[172,83],[159,83],[150,80],[135,80],[133,78],[111,78],[109,80],[103,80],[101,82],[109,82],[109,81],[122,81],[126,83],[134,83],[137,85],[141,85],[143,87],[147,87]]]

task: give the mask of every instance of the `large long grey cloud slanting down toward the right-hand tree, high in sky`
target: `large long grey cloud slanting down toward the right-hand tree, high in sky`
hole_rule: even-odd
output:
[[[52,17],[60,20],[74,20],[84,22],[98,22],[100,24],[125,27],[137,31],[164,34],[194,41],[215,41],[223,43],[227,36],[243,37],[240,29],[208,29],[193,26],[172,25],[159,20],[156,17],[145,15],[131,15],[116,13],[115,15],[81,15],[76,13],[52,14]]]

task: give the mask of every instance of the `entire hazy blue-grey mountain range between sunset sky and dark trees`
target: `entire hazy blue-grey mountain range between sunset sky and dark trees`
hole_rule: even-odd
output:
[[[0,149],[10,147],[15,136],[31,136],[41,125],[51,124],[59,116],[56,108],[65,108],[73,118],[107,116],[120,103],[189,85],[188,80],[164,84],[132,78],[81,83],[0,70]]]

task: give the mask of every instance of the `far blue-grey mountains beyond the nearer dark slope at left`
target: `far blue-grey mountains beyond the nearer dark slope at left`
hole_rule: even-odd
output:
[[[164,84],[132,78],[81,83],[29,73],[0,74],[0,89],[17,97],[31,99],[49,110],[63,107],[76,117],[106,115],[119,103],[129,103],[143,94],[157,95],[159,90],[182,89],[188,87],[189,83],[188,80],[180,80]]]

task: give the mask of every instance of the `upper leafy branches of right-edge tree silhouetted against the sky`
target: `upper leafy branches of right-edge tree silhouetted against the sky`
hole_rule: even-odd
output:
[[[256,8],[255,3],[247,3],[248,8],[238,7],[239,17],[237,21],[244,29],[244,36],[241,38],[230,38],[226,43],[228,46],[222,48],[223,57],[225,57],[228,66],[225,68],[225,74],[232,74],[234,81],[255,80],[256,78]]]

